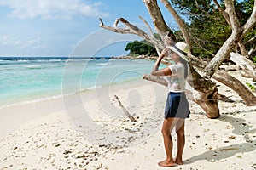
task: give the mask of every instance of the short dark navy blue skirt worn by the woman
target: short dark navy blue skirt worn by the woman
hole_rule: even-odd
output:
[[[189,118],[189,102],[186,98],[186,94],[169,92],[166,109],[165,109],[165,118],[168,117],[177,117],[177,118]]]

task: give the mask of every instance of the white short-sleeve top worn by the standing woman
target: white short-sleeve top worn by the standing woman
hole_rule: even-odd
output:
[[[168,66],[172,71],[171,76],[167,76],[166,80],[168,82],[169,92],[184,92],[186,79],[184,78],[185,66],[182,63],[177,63],[176,65]]]

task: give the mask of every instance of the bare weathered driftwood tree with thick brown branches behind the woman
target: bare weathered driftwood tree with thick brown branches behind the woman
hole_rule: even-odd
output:
[[[160,34],[162,40],[166,37],[166,32],[169,32],[170,37],[172,37],[173,43],[176,42],[176,37],[172,30],[166,25],[164,17],[161,14],[160,8],[158,6],[157,0],[143,0],[148,13],[154,24],[155,30]],[[224,16],[227,24],[230,26],[231,34],[230,37],[224,42],[223,46],[219,48],[218,52],[213,55],[213,58],[209,62],[204,62],[202,59],[198,59],[189,56],[189,66],[191,68],[192,84],[195,89],[191,96],[193,95],[195,103],[201,106],[201,108],[206,111],[209,118],[218,118],[218,100],[229,101],[224,95],[218,93],[218,88],[216,83],[212,82],[212,79],[218,80],[218,82],[224,83],[229,88],[236,91],[237,94],[241,96],[246,105],[256,105],[256,96],[243,85],[236,77],[230,76],[228,71],[219,70],[220,65],[230,57],[230,53],[234,48],[240,48],[242,53],[246,53],[242,39],[246,37],[248,31],[256,26],[256,0],[254,0],[254,5],[252,8],[251,16],[248,17],[245,24],[241,24],[240,20],[236,16],[236,8],[232,0],[224,0],[224,8],[222,8],[218,1],[213,1],[220,11],[220,14]],[[161,0],[161,3],[165,5],[167,10],[172,14],[173,18],[176,20],[177,25],[180,27],[183,33],[183,38],[191,47],[191,37],[193,35],[189,34],[188,25],[185,21],[177,14],[172,4],[167,0]],[[143,20],[142,17],[140,17]],[[100,19],[100,26],[109,31],[114,31],[121,34],[136,34],[142,37],[144,40],[150,42],[156,48],[158,54],[165,48],[163,41],[160,41],[154,37],[150,29],[150,34],[141,30],[137,26],[132,25],[128,20],[124,18],[119,18],[115,21],[114,26],[106,26]],[[118,27],[119,22],[122,22],[126,27]],[[143,22],[148,26],[148,23],[143,20]],[[149,27],[149,26],[148,26]]]

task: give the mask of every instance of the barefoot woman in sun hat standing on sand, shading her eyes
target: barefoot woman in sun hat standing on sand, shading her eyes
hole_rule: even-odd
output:
[[[166,39],[166,44],[171,40]],[[177,42],[174,46],[166,46],[154,64],[151,75],[157,77],[166,77],[168,82],[168,97],[166,101],[165,120],[163,122],[161,133],[163,135],[166,160],[160,161],[160,167],[172,167],[176,164],[183,164],[183,148],[185,144],[184,126],[185,118],[189,117],[189,103],[186,99],[185,83],[188,76],[188,58],[189,46],[184,42]],[[159,70],[161,60],[168,54],[172,56],[174,65]],[[172,130],[175,127],[177,133],[177,156],[172,157]]]

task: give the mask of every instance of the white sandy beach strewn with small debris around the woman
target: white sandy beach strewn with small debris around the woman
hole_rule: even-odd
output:
[[[182,166],[157,166],[166,88],[142,80],[0,110],[0,169],[256,169],[256,106],[224,85],[219,92],[237,102],[219,102],[218,119],[189,102]]]

